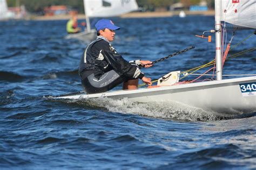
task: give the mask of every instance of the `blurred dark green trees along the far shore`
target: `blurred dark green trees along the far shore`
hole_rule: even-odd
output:
[[[9,7],[25,5],[26,10],[31,13],[42,12],[45,7],[51,5],[66,5],[70,9],[84,12],[84,3],[82,0],[6,0]],[[207,0],[211,1],[211,0]],[[140,8],[145,10],[154,10],[156,8],[167,8],[173,3],[198,4],[200,0],[137,0]]]

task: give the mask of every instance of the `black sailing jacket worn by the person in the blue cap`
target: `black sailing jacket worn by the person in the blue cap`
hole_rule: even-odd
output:
[[[85,48],[80,60],[79,75],[82,77],[83,73],[90,70],[90,72],[95,71],[100,77],[114,69],[120,75],[142,79],[144,74],[140,71],[138,63],[138,60],[136,62],[124,60],[109,42],[98,38]]]

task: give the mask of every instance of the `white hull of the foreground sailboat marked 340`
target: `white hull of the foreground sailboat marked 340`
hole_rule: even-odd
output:
[[[254,84],[251,92],[242,93],[241,84]],[[129,98],[134,102],[174,101],[185,103],[193,107],[210,109],[218,112],[242,113],[256,111],[256,76],[207,81],[176,86],[144,88],[137,90],[118,90],[98,94],[79,94],[60,96],[56,98],[97,98],[113,99]]]

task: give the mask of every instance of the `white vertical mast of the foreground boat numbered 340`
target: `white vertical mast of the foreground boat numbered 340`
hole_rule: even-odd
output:
[[[215,58],[216,77],[222,80],[222,54],[221,54],[221,1],[215,0]]]

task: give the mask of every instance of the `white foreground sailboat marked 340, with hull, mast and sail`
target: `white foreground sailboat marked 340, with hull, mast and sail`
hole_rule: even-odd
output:
[[[71,94],[55,97],[57,99],[83,99],[107,97],[113,99],[128,98],[134,102],[180,102],[206,110],[224,112],[225,114],[243,114],[256,111],[256,76],[246,76],[223,80],[223,46],[221,33],[224,27],[221,21],[234,24],[235,27],[256,29],[256,2],[215,0],[215,65],[216,80],[179,83],[179,73],[170,73],[172,80],[169,86],[161,86],[163,80],[158,80],[155,88],[139,88],[136,90],[117,90],[98,94]],[[239,63],[238,63],[239,65]],[[165,78],[166,81],[169,81]]]

